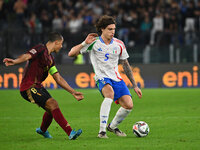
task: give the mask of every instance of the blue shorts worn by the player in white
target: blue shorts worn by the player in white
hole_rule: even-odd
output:
[[[124,95],[131,95],[128,87],[126,86],[125,82],[123,80],[117,82],[109,78],[104,78],[102,80],[97,81],[97,87],[99,91],[102,94],[102,88],[106,85],[110,84],[114,90],[114,101],[116,104],[118,104],[118,99]],[[103,94],[102,94],[103,95]]]

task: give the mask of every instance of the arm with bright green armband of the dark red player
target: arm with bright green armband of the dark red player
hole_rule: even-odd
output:
[[[63,77],[58,73],[55,66],[51,67],[49,69],[49,73],[53,76],[54,80],[58,85],[60,85],[63,89],[71,93],[78,101],[82,100],[83,94],[81,92],[75,91],[66,81],[63,79]]]

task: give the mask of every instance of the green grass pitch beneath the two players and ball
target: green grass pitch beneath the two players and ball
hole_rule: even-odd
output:
[[[49,90],[72,128],[83,129],[74,141],[53,121],[48,129],[53,139],[36,134],[43,110],[23,100],[18,90],[0,90],[1,150],[198,150],[200,149],[200,89],[143,89],[137,98],[133,89],[134,110],[120,124],[127,137],[107,133],[98,139],[99,108],[102,96],[97,89],[80,89],[83,101],[76,101],[64,90]],[[109,122],[119,105],[112,104]],[[150,133],[137,138],[132,132],[136,121],[145,121]]]

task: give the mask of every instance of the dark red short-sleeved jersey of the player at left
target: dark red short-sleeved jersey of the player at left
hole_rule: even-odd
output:
[[[49,69],[54,66],[54,58],[48,54],[45,45],[34,46],[28,52],[32,58],[27,61],[24,69],[20,91],[25,91],[31,86],[42,87],[42,82],[47,78]]]

